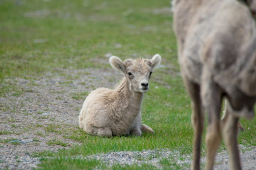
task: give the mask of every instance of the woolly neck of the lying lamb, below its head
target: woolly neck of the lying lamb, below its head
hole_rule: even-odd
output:
[[[117,91],[117,97],[127,103],[127,106],[129,105],[135,108],[141,107],[143,94],[135,92],[132,89],[130,90],[129,83],[125,77],[115,90]]]

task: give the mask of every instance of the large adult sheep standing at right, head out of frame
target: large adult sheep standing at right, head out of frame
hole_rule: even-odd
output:
[[[178,62],[192,99],[192,169],[200,169],[203,111],[208,113],[205,169],[213,169],[221,138],[232,169],[241,169],[238,120],[253,118],[256,102],[256,28],[249,8],[236,0],[177,0],[174,31]],[[223,97],[227,113],[220,120]]]

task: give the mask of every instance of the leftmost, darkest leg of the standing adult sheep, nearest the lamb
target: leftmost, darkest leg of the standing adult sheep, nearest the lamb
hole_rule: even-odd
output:
[[[201,141],[204,127],[204,115],[200,96],[200,86],[188,80],[185,76],[183,76],[183,81],[186,85],[188,94],[192,99],[191,105],[193,111],[191,115],[191,120],[194,131],[192,169],[200,169]]]

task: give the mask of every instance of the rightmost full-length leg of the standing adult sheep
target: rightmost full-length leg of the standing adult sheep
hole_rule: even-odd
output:
[[[232,109],[227,102],[225,118],[222,121],[223,140],[230,155],[231,169],[242,169],[238,149],[238,118],[232,115]]]

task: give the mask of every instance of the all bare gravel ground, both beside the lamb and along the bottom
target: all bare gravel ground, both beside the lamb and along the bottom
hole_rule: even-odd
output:
[[[107,58],[103,62],[107,63]],[[59,149],[80,145],[69,136],[74,132],[80,133],[78,115],[88,91],[96,86],[112,88],[122,77],[111,68],[63,69],[60,73],[46,74],[36,81],[6,81],[18,86],[19,90],[10,91],[0,98],[0,169],[33,169],[40,163],[40,159],[34,157],[35,153],[58,152]],[[241,152],[244,169],[255,169],[256,147],[242,147]],[[154,157],[156,154],[158,157]],[[161,168],[160,159],[168,159],[170,155],[176,155],[176,164],[181,167],[188,169],[191,164],[191,156],[181,155],[177,150],[110,152],[89,157],[101,159],[109,166],[146,162]],[[216,169],[228,169],[227,152],[218,154],[216,162]]]

